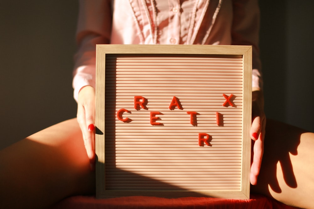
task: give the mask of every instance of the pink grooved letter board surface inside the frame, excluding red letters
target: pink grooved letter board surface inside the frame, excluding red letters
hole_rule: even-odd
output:
[[[240,190],[242,71],[242,56],[106,55],[106,189]],[[147,109],[134,109],[134,96]],[[169,109],[173,97],[182,110]],[[130,122],[117,119],[122,108]],[[151,125],[150,112],[163,125]],[[210,146],[198,145],[198,133]]]

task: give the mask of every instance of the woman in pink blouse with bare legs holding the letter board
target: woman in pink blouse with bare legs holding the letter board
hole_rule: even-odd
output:
[[[81,0],[73,79],[79,126],[68,120],[0,152],[0,206],[42,207],[95,191],[95,44],[233,44],[253,46],[251,191],[313,208],[314,133],[265,125],[258,25],[257,0]]]

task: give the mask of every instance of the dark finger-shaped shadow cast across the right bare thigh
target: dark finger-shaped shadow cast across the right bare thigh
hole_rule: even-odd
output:
[[[267,120],[260,175],[257,186],[251,186],[251,191],[261,192],[262,190],[268,196],[271,196],[269,189],[276,193],[282,192],[277,178],[278,163],[282,169],[280,175],[283,175],[285,184],[291,188],[298,186],[290,154],[298,154],[300,136],[305,132],[305,130],[279,121]]]

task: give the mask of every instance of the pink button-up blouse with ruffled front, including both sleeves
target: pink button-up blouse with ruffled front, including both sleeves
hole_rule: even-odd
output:
[[[252,87],[262,88],[257,0],[80,0],[74,98],[95,88],[96,44],[252,45]]]

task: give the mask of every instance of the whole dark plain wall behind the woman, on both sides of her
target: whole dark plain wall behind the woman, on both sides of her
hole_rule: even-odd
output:
[[[314,132],[314,1],[260,1],[265,111]],[[0,149],[76,116],[75,0],[0,1]]]

